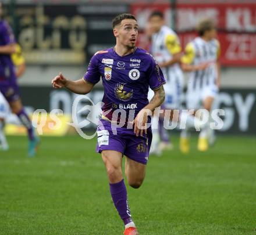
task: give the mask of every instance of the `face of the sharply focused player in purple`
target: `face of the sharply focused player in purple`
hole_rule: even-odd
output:
[[[136,20],[122,20],[120,26],[114,29],[114,35],[118,38],[120,44],[128,48],[134,48],[138,37],[138,24]]]

